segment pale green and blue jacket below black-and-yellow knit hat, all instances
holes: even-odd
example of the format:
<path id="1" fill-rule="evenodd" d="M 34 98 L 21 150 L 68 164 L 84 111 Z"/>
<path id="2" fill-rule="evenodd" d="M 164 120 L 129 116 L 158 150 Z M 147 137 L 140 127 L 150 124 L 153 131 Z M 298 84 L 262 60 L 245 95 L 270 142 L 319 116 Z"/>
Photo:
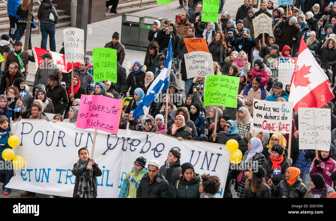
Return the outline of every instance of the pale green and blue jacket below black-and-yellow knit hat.
<path id="1" fill-rule="evenodd" d="M 148 173 L 147 168 L 135 171 L 133 167 L 125 176 L 118 198 L 136 198 L 136 190 L 138 189 L 143 175 L 146 173 Z"/>

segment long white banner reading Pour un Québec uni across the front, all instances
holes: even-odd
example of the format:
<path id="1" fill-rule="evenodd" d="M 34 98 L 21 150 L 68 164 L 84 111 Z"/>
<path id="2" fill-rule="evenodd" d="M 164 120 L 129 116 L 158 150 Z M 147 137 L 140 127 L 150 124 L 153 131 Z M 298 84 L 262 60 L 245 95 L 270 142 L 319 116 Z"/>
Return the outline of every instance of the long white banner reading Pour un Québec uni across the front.
<path id="1" fill-rule="evenodd" d="M 86 147 L 91 153 L 94 129 L 32 119 L 20 120 L 11 126 L 13 134 L 20 139 L 19 146 L 13 150 L 26 160 L 27 168 L 15 170 L 16 176 L 7 187 L 72 197 L 75 176 L 71 171 L 78 161 L 80 148 Z M 102 176 L 97 177 L 97 197 L 118 197 L 123 179 L 136 158 L 142 156 L 147 163 L 155 159 L 164 165 L 172 148 L 180 150 L 181 164 L 191 162 L 196 173 L 218 176 L 221 188 L 216 197 L 223 197 L 231 153 L 225 145 L 179 141 L 164 134 L 130 130 L 119 130 L 118 134 L 98 130 L 94 160 Z"/>

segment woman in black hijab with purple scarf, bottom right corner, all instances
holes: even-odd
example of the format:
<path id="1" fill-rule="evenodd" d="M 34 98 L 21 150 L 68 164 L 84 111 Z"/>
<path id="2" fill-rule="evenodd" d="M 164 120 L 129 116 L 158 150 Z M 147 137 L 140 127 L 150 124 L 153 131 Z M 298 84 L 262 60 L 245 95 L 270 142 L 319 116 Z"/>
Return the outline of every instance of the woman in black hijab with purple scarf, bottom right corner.
<path id="1" fill-rule="evenodd" d="M 335 190 L 324 182 L 323 176 L 318 173 L 310 175 L 310 188 L 308 188 L 304 198 L 327 198 Z"/>

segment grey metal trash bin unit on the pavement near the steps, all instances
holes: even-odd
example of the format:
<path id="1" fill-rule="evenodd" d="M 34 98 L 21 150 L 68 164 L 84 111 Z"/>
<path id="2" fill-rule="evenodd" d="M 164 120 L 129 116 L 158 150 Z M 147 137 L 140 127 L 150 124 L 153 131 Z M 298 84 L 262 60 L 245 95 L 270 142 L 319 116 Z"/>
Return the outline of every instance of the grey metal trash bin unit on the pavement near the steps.
<path id="1" fill-rule="evenodd" d="M 165 20 L 171 22 L 170 19 L 165 18 L 123 14 L 121 25 L 121 43 L 125 46 L 125 48 L 147 51 L 147 46 L 150 42 L 148 40 L 148 32 L 153 29 L 154 20 L 159 20 L 161 26 Z"/>

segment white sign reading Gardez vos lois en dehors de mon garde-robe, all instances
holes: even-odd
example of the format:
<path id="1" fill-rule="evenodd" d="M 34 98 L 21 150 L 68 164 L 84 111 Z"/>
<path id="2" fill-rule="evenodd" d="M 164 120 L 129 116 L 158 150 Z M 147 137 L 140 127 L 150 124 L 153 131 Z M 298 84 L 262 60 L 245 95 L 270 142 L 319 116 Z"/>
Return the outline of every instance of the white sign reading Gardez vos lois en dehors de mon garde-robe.
<path id="1" fill-rule="evenodd" d="M 267 133 L 292 133 L 293 102 L 253 99 L 253 129 Z"/>

